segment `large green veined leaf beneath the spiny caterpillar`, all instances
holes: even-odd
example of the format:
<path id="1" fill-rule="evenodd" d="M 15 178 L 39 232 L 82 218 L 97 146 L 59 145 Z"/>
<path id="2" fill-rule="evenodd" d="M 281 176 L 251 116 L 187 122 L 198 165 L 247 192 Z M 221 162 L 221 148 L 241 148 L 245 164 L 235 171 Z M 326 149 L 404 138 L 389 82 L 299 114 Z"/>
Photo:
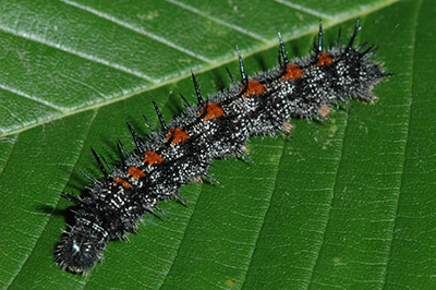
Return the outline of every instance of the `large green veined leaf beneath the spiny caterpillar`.
<path id="1" fill-rule="evenodd" d="M 0 287 L 11 289 L 435 288 L 436 105 L 433 1 L 1 1 Z M 306 56 L 323 19 L 334 46 L 356 17 L 360 43 L 393 73 L 374 105 L 328 123 L 293 120 L 294 140 L 253 137 L 255 164 L 216 160 L 220 185 L 189 184 L 191 206 L 162 203 L 130 242 L 108 244 L 86 276 L 61 270 L 60 198 L 98 177 L 89 146 L 117 160 L 238 72 L 277 63 L 277 31 Z"/>

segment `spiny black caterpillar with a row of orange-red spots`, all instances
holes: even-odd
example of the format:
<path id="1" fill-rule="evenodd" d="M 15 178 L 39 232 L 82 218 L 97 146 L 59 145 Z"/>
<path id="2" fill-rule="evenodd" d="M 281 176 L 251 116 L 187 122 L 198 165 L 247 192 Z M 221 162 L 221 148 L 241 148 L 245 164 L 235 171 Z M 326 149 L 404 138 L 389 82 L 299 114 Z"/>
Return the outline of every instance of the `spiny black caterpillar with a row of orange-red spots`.
<path id="1" fill-rule="evenodd" d="M 359 29 L 358 21 L 348 46 L 341 47 L 339 35 L 338 47 L 323 51 L 319 25 L 314 52 L 291 61 L 279 34 L 279 65 L 253 77 L 245 75 L 238 51 L 242 81 L 235 82 L 229 73 L 232 86 L 205 100 L 193 75 L 198 104 L 186 101 L 187 109 L 168 124 L 154 102 L 162 129 L 150 126 L 152 135 L 142 138 L 128 124 L 136 149 L 128 153 L 119 142 L 117 167 L 104 158 L 101 162 L 93 150 L 104 178 L 84 173 L 93 188 L 81 197 L 63 194 L 75 203 L 75 223 L 57 245 L 57 264 L 72 273 L 88 270 L 102 258 L 107 242 L 125 239 L 146 213 L 160 210 L 160 201 L 179 197 L 186 202 L 179 194 L 180 186 L 202 176 L 211 178 L 206 170 L 214 159 L 237 153 L 249 158 L 243 148 L 250 136 L 277 131 L 289 135 L 291 118 L 324 120 L 328 105 L 349 105 L 347 97 L 371 101 L 373 86 L 388 73 L 370 60 L 373 46 L 353 47 Z"/>

